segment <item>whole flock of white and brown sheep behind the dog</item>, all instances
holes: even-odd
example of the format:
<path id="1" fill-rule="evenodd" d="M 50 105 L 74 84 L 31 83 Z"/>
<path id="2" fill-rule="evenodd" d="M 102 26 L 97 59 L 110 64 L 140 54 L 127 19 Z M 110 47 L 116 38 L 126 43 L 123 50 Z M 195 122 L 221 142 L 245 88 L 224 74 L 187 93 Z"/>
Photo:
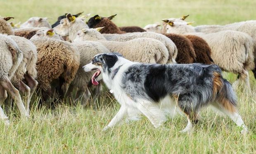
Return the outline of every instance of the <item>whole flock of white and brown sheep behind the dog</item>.
<path id="1" fill-rule="evenodd" d="M 92 85 L 92 73 L 82 67 L 94 55 L 108 52 L 146 63 L 218 64 L 238 74 L 234 87 L 243 84 L 251 93 L 248 71 L 256 77 L 256 21 L 193 27 L 183 16 L 142 29 L 116 26 L 111 21 L 116 15 L 85 21 L 90 14 L 78 17 L 81 14 L 59 16 L 52 26 L 47 18 L 32 17 L 20 26 L 9 23 L 12 17 L 0 18 L 1 106 L 8 92 L 21 115 L 28 117 L 36 90 L 43 104 L 68 98 L 85 105 L 92 97 L 95 106 L 102 83 Z M 1 107 L 0 119 L 9 124 Z"/>

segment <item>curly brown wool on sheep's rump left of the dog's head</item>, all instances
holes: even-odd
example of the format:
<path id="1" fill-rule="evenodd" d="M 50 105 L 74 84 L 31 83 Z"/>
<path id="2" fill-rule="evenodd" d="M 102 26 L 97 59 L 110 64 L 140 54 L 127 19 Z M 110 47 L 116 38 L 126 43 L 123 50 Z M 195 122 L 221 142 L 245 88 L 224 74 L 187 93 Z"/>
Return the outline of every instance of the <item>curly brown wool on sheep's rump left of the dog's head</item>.
<path id="1" fill-rule="evenodd" d="M 64 78 L 64 92 L 75 78 L 80 63 L 76 46 L 66 41 L 48 38 L 31 39 L 37 47 L 37 80 L 44 91 L 50 88 L 53 80 Z"/>

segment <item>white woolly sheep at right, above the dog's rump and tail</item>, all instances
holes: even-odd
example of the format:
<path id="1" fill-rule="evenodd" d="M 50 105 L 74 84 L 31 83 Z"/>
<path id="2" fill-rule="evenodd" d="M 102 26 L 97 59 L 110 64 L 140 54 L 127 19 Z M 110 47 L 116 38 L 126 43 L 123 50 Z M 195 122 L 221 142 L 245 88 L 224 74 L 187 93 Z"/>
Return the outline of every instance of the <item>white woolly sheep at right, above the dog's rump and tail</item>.
<path id="1" fill-rule="evenodd" d="M 211 57 L 224 71 L 239 74 L 235 83 L 237 87 L 241 80 L 245 81 L 244 90 L 251 92 L 248 71 L 254 69 L 254 40 L 243 32 L 221 31 L 216 33 L 195 32 L 194 27 L 187 23 L 168 21 L 164 25 L 168 33 L 192 34 L 206 40 L 212 50 Z"/>

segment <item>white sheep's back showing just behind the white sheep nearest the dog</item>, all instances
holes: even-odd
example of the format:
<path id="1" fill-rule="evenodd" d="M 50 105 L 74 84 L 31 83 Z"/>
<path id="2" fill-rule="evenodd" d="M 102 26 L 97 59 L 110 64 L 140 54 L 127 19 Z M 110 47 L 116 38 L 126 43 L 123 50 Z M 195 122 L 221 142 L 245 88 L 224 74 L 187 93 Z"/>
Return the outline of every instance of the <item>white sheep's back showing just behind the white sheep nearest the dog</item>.
<path id="1" fill-rule="evenodd" d="M 108 40 L 108 41 L 130 41 L 132 39 L 137 39 L 137 38 L 151 38 L 151 39 L 157 39 L 161 41 L 166 48 L 169 51 L 170 58 L 168 59 L 168 63 L 175 63 L 175 59 L 177 57 L 178 49 L 173 43 L 171 39 L 166 37 L 163 34 L 158 34 L 155 32 L 133 32 L 133 33 L 125 33 L 125 34 L 103 34 L 103 36 Z"/>

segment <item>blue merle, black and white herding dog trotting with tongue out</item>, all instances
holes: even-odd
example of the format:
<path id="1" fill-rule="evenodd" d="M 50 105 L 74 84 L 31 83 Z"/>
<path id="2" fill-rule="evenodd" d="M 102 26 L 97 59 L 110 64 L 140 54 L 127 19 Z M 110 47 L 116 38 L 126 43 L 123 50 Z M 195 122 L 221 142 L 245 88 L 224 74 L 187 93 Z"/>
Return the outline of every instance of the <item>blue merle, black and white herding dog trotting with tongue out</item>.
<path id="1" fill-rule="evenodd" d="M 189 132 L 198 122 L 199 110 L 211 105 L 241 126 L 242 133 L 248 131 L 237 111 L 235 92 L 217 65 L 144 64 L 131 62 L 119 53 L 102 53 L 83 69 L 97 70 L 92 84 L 103 78 L 121 105 L 103 130 L 120 124 L 124 117 L 136 120 L 140 114 L 158 128 L 166 121 L 166 114 L 178 110 L 188 121 L 182 132 Z"/>

